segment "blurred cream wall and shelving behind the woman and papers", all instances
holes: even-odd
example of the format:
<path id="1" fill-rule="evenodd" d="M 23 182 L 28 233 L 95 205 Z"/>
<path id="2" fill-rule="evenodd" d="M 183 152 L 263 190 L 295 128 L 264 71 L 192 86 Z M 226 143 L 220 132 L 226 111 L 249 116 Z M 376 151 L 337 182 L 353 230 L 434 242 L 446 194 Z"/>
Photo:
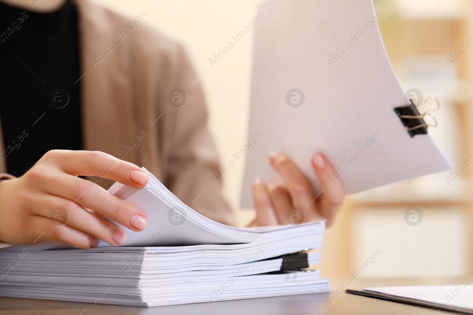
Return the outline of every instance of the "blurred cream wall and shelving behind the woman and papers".
<path id="1" fill-rule="evenodd" d="M 201 75 L 210 112 L 208 126 L 223 142 L 216 141 L 221 162 L 228 161 L 247 141 L 254 32 L 213 67 L 209 59 L 256 15 L 263 1 L 95 1 L 130 20 L 142 11 L 146 14 L 143 23 L 184 43 Z M 383 14 L 378 25 L 404 89 L 416 88 L 424 98 L 435 95 L 440 100 L 441 109 L 435 113 L 439 124 L 429 128 L 429 133 L 454 167 L 466 160 L 473 162 L 473 47 L 463 48 L 466 52 L 457 54 L 456 60 L 450 56 L 465 42 L 473 44 L 473 1 L 374 3 Z M 447 64 L 447 58 L 455 63 Z M 437 278 L 473 271 L 470 169 L 473 166 L 450 185 L 446 180 L 449 172 L 444 172 L 347 197 L 324 238 L 322 275 L 345 277 L 378 248 L 382 254 L 357 276 Z M 244 163 L 236 163 L 224 178 L 225 195 L 240 226 L 254 218 L 252 210 L 238 207 L 243 170 Z M 405 221 L 410 207 L 417 207 L 420 224 Z"/>

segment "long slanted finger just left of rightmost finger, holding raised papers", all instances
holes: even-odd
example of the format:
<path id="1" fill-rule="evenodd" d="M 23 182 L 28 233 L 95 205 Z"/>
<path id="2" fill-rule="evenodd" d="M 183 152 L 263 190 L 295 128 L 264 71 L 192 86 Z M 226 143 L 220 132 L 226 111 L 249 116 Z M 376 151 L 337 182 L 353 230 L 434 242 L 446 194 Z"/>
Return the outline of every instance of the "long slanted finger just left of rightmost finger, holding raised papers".
<path id="1" fill-rule="evenodd" d="M 306 213 L 306 221 L 321 220 L 322 216 L 315 211 L 316 205 L 312 203 L 312 187 L 297 165 L 287 155 L 277 153 L 270 155 L 270 162 L 284 180 L 292 204 Z"/>

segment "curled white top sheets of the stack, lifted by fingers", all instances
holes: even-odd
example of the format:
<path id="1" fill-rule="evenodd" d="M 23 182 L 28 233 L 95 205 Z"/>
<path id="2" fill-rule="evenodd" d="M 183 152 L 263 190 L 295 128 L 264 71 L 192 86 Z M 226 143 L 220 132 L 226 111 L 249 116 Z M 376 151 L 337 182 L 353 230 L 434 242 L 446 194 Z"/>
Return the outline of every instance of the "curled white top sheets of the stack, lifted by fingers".
<path id="1" fill-rule="evenodd" d="M 148 172 L 145 168 L 142 169 Z M 127 240 L 121 247 L 243 244 L 290 240 L 307 235 L 317 236 L 322 241 L 325 231 L 323 220 L 306 222 L 298 226 L 287 224 L 259 229 L 241 229 L 221 224 L 184 204 L 151 173 L 149 173 L 148 184 L 141 189 L 115 182 L 108 191 L 135 204 L 148 218 L 146 229 L 135 232 L 105 217 L 106 220 L 114 222 L 125 231 Z M 175 213 L 173 209 L 178 213 Z M 180 221 L 173 221 L 172 218 L 175 215 Z M 111 247 L 111 245 L 99 240 L 97 247 Z M 70 248 L 72 247 L 55 241 L 44 241 L 28 247 L 29 250 Z"/>

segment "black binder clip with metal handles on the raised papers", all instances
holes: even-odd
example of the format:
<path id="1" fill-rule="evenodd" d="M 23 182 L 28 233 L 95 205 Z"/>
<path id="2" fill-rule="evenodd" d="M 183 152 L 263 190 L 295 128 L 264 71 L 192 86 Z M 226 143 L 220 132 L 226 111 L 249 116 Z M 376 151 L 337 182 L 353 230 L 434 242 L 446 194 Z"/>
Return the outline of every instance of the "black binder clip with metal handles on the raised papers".
<path id="1" fill-rule="evenodd" d="M 427 102 L 428 99 L 432 99 L 437 102 L 437 108 L 434 110 L 425 111 L 423 114 L 419 113 L 419 111 L 417 110 L 418 107 L 414 105 L 412 100 L 409 100 L 409 102 L 411 103 L 410 106 L 394 108 L 394 111 L 401 118 L 403 125 L 407 127 L 407 132 L 409 133 L 409 135 L 411 135 L 411 137 L 420 134 L 427 134 L 428 126 L 437 126 L 437 119 L 435 119 L 434 115 L 429 113 L 429 111 L 438 111 L 438 109 L 440 108 L 440 103 L 438 102 L 438 99 L 433 95 L 426 98 L 423 103 Z M 421 105 L 422 104 L 420 104 L 419 106 Z M 434 119 L 435 125 L 430 125 L 425 122 L 424 117 L 426 115 L 429 115 L 432 119 Z"/>

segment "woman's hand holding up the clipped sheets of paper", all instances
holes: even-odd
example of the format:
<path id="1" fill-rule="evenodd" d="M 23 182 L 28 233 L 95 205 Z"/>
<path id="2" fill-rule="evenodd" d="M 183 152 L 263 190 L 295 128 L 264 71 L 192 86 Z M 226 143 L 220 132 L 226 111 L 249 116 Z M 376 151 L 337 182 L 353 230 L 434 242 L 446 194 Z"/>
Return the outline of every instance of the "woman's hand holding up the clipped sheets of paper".
<path id="1" fill-rule="evenodd" d="M 284 154 L 271 153 L 270 163 L 284 180 L 286 187 L 267 185 L 261 179 L 253 183 L 253 198 L 256 208 L 256 225 L 292 224 L 326 219 L 333 223 L 335 213 L 343 201 L 340 181 L 327 180 L 333 175 L 333 167 L 321 153 L 310 160 L 322 192 L 314 193 L 307 178 L 296 164 Z"/>

